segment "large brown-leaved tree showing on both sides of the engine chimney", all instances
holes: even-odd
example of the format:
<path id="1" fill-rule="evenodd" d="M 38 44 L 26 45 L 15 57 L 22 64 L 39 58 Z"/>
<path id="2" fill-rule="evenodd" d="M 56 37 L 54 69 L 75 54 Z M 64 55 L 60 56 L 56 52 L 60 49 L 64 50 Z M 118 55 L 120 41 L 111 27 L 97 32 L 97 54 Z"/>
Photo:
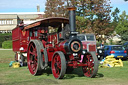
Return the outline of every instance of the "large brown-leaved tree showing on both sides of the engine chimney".
<path id="1" fill-rule="evenodd" d="M 77 8 L 78 31 L 81 32 L 81 29 L 85 29 L 84 32 L 93 32 L 96 36 L 109 35 L 109 32 L 113 31 L 113 28 L 109 25 L 110 0 L 47 0 L 45 14 L 46 16 L 53 16 L 54 14 L 55 17 L 59 15 L 65 17 L 67 16 L 66 8 L 69 6 Z"/>

